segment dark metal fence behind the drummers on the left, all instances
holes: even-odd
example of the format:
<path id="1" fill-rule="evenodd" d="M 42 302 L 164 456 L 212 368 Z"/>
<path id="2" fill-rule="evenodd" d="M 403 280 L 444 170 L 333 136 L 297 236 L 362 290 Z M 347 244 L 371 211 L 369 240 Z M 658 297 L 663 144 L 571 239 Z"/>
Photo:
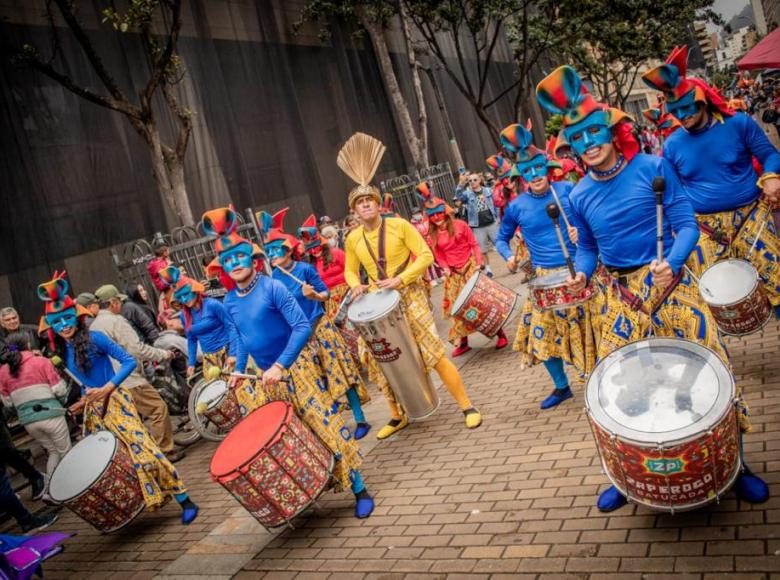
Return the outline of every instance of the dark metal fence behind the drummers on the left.
<path id="1" fill-rule="evenodd" d="M 238 214 L 241 224 L 238 227 L 238 233 L 262 246 L 252 210 L 246 210 L 246 215 L 247 219 L 240 213 Z M 216 256 L 214 252 L 216 238 L 205 236 L 200 229 L 200 224 L 197 228 L 192 226 L 177 227 L 167 234 L 158 232 L 151 240 L 141 238 L 111 248 L 109 250 L 111 261 L 122 284 L 124 286 L 142 284 L 149 296 L 155 297 L 154 300 L 150 300 L 150 306 L 155 310 L 157 309 L 159 292 L 152 283 L 146 267 L 155 257 L 153 244 L 157 240 L 163 240 L 168 245 L 171 263 L 184 269 L 188 276 L 197 280 L 206 278 L 206 266 Z"/>

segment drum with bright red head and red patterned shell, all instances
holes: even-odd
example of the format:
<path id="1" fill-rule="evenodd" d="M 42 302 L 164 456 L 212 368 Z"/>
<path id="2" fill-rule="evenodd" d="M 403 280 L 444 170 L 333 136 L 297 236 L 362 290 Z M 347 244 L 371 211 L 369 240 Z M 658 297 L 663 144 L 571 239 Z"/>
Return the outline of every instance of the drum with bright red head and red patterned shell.
<path id="1" fill-rule="evenodd" d="M 220 443 L 211 476 L 266 528 L 288 523 L 317 499 L 333 455 L 295 415 L 274 401 L 249 414 Z"/>

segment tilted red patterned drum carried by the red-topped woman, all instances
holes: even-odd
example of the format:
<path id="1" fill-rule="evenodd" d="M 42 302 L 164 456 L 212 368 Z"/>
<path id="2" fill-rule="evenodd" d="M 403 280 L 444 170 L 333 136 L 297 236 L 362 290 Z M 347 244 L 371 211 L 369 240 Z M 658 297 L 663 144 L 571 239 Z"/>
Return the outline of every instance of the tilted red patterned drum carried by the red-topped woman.
<path id="1" fill-rule="evenodd" d="M 474 272 L 452 304 L 452 316 L 470 330 L 493 337 L 501 330 L 517 303 L 517 294 L 506 286 Z"/>

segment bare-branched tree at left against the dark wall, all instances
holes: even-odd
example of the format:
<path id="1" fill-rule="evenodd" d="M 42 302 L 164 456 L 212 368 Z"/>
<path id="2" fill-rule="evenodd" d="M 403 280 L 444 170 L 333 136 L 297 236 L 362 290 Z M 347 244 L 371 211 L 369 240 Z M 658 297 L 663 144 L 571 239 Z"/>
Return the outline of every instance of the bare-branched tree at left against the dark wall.
<path id="1" fill-rule="evenodd" d="M 83 86 L 62 72 L 63 68 L 67 68 L 67 63 L 63 62 L 59 52 L 54 6 L 100 79 L 103 90 Z M 51 55 L 44 58 L 36 47 L 27 44 L 14 57 L 14 61 L 46 75 L 91 103 L 124 115 L 149 148 L 154 179 L 163 202 L 182 224 L 194 224 L 184 183 L 184 155 L 192 132 L 192 111 L 183 106 L 175 94 L 175 86 L 185 74 L 176 54 L 181 29 L 181 0 L 129 0 L 124 12 L 113 8 L 102 11 L 103 23 L 108 23 L 117 34 L 138 33 L 149 63 L 149 77 L 133 98 L 119 88 L 97 53 L 78 18 L 77 2 L 46 0 L 46 11 L 53 40 Z M 154 30 L 160 28 L 164 34 L 158 36 Z M 157 112 L 153 106 L 158 94 L 162 96 L 165 109 L 176 127 L 175 141 L 171 143 L 165 142 L 160 135 Z"/>

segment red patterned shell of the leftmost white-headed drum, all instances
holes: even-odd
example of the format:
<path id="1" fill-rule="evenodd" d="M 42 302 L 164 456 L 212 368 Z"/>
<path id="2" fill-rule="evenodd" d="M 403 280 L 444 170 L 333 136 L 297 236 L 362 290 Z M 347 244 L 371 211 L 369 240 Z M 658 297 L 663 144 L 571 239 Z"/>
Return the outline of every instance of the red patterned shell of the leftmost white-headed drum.
<path id="1" fill-rule="evenodd" d="M 121 440 L 115 440 L 114 455 L 100 477 L 79 495 L 61 502 L 103 533 L 123 528 L 132 522 L 146 505 L 130 453 Z M 58 468 L 65 468 L 66 465 L 60 462 Z"/>

